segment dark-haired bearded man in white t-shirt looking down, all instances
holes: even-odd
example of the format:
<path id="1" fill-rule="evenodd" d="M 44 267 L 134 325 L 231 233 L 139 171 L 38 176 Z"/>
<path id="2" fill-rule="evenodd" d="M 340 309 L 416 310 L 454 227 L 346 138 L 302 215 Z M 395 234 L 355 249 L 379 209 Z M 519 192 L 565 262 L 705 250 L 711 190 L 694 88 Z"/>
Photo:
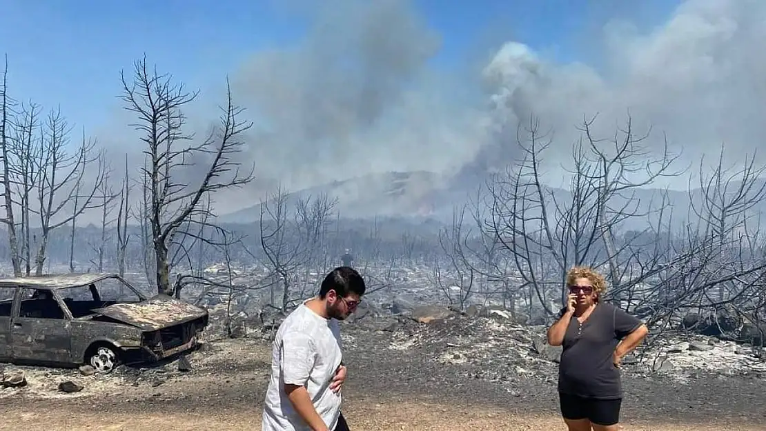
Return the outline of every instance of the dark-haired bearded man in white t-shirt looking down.
<path id="1" fill-rule="evenodd" d="M 345 366 L 338 321 L 364 294 L 362 276 L 339 266 L 322 281 L 319 295 L 282 322 L 272 345 L 263 431 L 349 431 L 340 412 Z"/>

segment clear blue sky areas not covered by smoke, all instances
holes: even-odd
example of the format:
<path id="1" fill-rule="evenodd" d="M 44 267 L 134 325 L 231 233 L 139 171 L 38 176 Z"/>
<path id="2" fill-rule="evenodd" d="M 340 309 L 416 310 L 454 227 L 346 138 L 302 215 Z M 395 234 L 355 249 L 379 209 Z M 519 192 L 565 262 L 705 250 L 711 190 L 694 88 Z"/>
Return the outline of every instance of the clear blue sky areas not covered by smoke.
<path id="1" fill-rule="evenodd" d="M 287 0 L 285 0 L 287 1 Z M 553 60 L 597 65 L 588 41 L 607 18 L 640 28 L 666 20 L 676 0 L 415 0 L 440 34 L 434 67 L 459 67 L 472 50 L 516 40 Z M 45 108 L 61 104 L 70 122 L 106 122 L 117 104 L 119 70 L 144 52 L 190 87 L 220 83 L 256 51 L 289 46 L 306 30 L 302 15 L 273 0 L 0 0 L 0 53 L 10 92 Z"/>

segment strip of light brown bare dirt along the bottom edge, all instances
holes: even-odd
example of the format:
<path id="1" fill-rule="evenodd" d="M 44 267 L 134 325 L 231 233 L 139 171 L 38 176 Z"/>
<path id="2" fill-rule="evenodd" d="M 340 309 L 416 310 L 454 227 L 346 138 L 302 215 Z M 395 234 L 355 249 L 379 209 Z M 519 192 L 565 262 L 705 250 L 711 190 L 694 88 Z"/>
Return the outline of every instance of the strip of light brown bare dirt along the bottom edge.
<path id="1" fill-rule="evenodd" d="M 374 401 L 373 401 L 374 402 Z M 41 407 L 41 406 L 37 406 Z M 162 411 L 155 409 L 140 414 L 109 411 L 71 411 L 64 406 L 48 409 L 19 408 L 3 413 L 0 430 L 45 429 L 46 431 L 110 430 L 110 431 L 241 431 L 260 429 L 260 407 L 243 410 L 209 411 L 205 407 L 191 412 Z M 487 410 L 478 407 L 434 404 L 419 401 L 359 403 L 350 402 L 345 416 L 352 429 L 366 431 L 393 431 L 411 429 L 417 431 L 453 431 L 456 429 L 504 430 L 555 430 L 565 429 L 555 416 L 532 416 L 514 414 L 503 410 Z M 731 423 L 660 423 L 630 421 L 624 423 L 626 431 L 713 431 L 720 429 L 760 430 L 764 426 Z"/>

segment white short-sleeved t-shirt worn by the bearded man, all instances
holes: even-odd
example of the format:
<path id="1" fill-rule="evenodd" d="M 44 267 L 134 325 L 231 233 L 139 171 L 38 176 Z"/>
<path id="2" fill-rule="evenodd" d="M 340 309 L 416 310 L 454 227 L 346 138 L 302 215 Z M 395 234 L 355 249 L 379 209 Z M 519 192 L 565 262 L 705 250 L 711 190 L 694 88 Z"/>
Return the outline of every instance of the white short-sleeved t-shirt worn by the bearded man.
<path id="1" fill-rule="evenodd" d="M 340 327 L 306 307 L 288 315 L 277 330 L 271 351 L 271 380 L 264 402 L 263 431 L 310 431 L 293 409 L 284 384 L 303 385 L 329 429 L 340 415 L 341 394 L 329 389 L 342 359 Z"/>

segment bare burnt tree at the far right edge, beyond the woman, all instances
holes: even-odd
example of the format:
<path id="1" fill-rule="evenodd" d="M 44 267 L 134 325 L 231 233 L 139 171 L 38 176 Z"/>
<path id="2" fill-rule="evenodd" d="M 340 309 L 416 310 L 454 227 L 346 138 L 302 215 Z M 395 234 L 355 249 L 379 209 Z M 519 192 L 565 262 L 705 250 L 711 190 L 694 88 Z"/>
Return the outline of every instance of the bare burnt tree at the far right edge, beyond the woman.
<path id="1" fill-rule="evenodd" d="M 753 315 L 766 279 L 766 243 L 756 208 L 766 197 L 766 166 L 745 158 L 731 169 L 722 160 L 723 152 L 712 169 L 700 165 L 699 188 L 690 182 L 687 220 L 671 243 L 684 259 L 657 274 L 649 295 L 661 299 L 651 304 L 654 321 L 693 311 L 708 316 L 709 335 L 732 333 L 742 318 Z"/>

